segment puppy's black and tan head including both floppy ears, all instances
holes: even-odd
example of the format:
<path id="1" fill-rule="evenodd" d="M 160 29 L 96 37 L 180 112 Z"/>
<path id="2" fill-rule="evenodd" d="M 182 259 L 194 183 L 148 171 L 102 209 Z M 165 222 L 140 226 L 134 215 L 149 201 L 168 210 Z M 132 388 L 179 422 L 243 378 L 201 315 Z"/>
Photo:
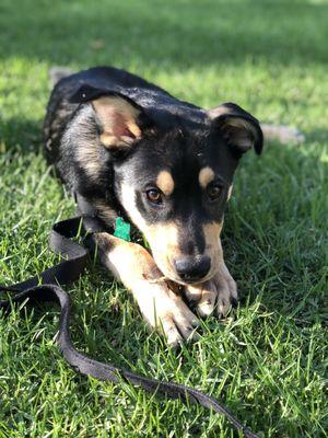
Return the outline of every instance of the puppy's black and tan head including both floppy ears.
<path id="1" fill-rule="evenodd" d="M 179 115 L 163 127 L 117 93 L 89 90 L 89 100 L 102 147 L 114 157 L 116 196 L 159 268 L 183 285 L 210 279 L 222 258 L 219 237 L 234 171 L 244 152 L 262 149 L 257 119 L 226 103 L 197 108 L 198 123 Z"/>

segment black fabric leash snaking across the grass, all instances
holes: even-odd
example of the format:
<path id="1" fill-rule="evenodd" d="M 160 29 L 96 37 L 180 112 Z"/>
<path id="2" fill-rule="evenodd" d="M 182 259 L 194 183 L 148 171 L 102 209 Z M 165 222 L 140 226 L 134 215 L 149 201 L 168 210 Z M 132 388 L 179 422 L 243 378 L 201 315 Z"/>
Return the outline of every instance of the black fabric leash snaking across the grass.
<path id="1" fill-rule="evenodd" d="M 199 403 L 219 414 L 223 414 L 236 430 L 243 431 L 246 438 L 258 438 L 257 435 L 236 419 L 218 400 L 201 391 L 178 383 L 163 382 L 138 376 L 133 372 L 118 369 L 110 364 L 98 362 L 75 349 L 69 331 L 72 303 L 68 293 L 58 284 L 67 285 L 77 280 L 86 265 L 89 251 L 71 239 L 78 234 L 86 237 L 90 233 L 101 231 L 104 231 L 103 222 L 97 218 L 89 216 L 79 216 L 55 223 L 50 233 L 49 246 L 67 260 L 26 281 L 13 286 L 0 285 L 0 291 L 13 292 L 9 300 L 0 301 L 0 309 L 10 311 L 11 304 L 23 302 L 26 299 L 28 299 L 28 303 L 38 303 L 40 301 L 58 302 L 61 311 L 57 342 L 63 357 L 78 372 L 114 383 L 119 383 L 124 379 L 128 383 L 141 387 L 152 393 L 160 393 L 169 399 L 180 399 L 181 401 Z M 39 285 L 40 280 L 42 285 Z"/>

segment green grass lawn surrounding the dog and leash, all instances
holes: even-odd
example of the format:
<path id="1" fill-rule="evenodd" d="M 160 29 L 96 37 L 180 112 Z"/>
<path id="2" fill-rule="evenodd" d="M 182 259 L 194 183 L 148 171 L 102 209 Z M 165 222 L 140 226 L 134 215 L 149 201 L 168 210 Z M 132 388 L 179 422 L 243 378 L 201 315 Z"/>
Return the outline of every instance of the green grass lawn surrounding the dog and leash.
<path id="1" fill-rule="evenodd" d="M 242 296 L 234 321 L 209 319 L 177 355 L 97 265 L 69 290 L 82 351 L 202 389 L 261 437 L 328 429 L 327 22 L 325 0 L 0 3 L 0 283 L 51 265 L 48 231 L 73 211 L 42 154 L 50 66 L 115 65 L 306 135 L 300 147 L 248 153 L 238 170 L 224 229 Z M 56 307 L 0 313 L 1 438 L 234 436 L 201 407 L 78 376 L 58 353 L 57 325 Z"/>

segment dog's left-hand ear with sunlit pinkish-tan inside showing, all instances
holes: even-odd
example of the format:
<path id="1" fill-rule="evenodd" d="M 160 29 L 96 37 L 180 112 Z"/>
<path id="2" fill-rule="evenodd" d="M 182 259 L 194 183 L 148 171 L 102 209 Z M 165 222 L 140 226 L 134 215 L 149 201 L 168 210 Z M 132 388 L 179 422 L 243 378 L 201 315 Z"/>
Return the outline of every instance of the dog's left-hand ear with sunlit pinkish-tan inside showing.
<path id="1" fill-rule="evenodd" d="M 116 92 L 82 85 L 70 102 L 92 104 L 101 142 L 110 150 L 130 148 L 142 138 L 142 129 L 150 125 L 139 105 Z"/>

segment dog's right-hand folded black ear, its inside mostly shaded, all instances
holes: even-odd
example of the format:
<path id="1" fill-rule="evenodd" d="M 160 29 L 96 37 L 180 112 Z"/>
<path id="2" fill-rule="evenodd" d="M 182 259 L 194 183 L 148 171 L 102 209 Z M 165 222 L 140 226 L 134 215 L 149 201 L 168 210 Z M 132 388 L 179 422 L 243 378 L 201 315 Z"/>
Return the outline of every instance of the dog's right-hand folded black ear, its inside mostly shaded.
<path id="1" fill-rule="evenodd" d="M 208 111 L 212 127 L 222 132 L 223 137 L 237 157 L 248 149 L 255 149 L 260 154 L 263 147 L 263 134 L 259 122 L 241 106 L 224 103 Z"/>

